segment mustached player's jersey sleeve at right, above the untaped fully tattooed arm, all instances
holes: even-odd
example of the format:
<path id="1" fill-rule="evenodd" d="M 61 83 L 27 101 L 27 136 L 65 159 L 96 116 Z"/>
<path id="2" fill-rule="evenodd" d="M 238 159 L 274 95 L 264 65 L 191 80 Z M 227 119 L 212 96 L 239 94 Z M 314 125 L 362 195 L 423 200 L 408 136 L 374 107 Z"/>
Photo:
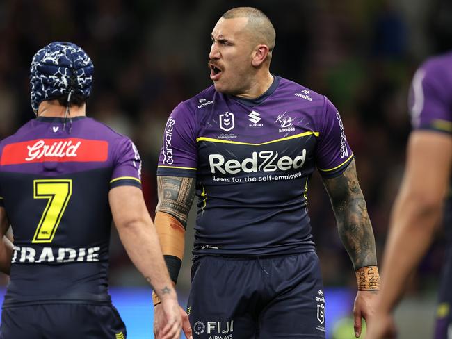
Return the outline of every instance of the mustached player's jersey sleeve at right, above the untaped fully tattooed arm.
<path id="1" fill-rule="evenodd" d="M 325 178 L 338 176 L 350 164 L 353 152 L 348 145 L 341 115 L 325 98 L 323 121 L 319 122 L 320 133 L 316 149 L 316 166 Z"/>

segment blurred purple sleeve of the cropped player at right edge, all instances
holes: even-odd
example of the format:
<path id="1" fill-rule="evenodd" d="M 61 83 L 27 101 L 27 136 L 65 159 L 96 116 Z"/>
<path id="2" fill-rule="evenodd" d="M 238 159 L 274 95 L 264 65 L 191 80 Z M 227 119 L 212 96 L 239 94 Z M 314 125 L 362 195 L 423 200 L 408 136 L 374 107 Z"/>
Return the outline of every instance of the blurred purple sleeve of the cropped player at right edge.
<path id="1" fill-rule="evenodd" d="M 408 101 L 413 129 L 452 134 L 451 84 L 446 79 L 435 63 L 426 63 L 414 74 Z"/>

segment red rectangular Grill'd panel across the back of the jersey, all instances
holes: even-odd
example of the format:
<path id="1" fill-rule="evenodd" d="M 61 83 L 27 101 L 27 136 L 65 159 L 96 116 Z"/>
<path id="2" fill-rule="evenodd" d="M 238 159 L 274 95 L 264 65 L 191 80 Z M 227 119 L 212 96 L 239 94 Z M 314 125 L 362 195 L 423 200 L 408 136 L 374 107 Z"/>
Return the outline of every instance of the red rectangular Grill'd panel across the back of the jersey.
<path id="1" fill-rule="evenodd" d="M 42 163 L 44 161 L 106 161 L 108 142 L 81 138 L 36 139 L 7 144 L 0 165 Z"/>

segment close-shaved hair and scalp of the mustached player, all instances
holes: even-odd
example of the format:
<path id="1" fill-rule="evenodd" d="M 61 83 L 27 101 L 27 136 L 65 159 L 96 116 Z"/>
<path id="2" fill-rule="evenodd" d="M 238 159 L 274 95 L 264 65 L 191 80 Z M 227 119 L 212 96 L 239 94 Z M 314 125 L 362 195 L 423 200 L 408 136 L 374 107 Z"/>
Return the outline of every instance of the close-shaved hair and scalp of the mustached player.
<path id="1" fill-rule="evenodd" d="M 266 44 L 270 51 L 275 47 L 275 28 L 270 19 L 257 8 L 236 7 L 228 10 L 222 15 L 223 19 L 234 19 L 238 17 L 248 18 L 245 28 L 249 31 L 257 44 Z"/>

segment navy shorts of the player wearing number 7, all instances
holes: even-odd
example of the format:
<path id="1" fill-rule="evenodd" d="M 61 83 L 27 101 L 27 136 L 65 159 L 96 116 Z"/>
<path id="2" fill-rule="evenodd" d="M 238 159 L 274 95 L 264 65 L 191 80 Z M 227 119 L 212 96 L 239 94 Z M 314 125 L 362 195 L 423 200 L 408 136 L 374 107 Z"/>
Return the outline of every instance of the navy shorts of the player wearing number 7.
<path id="1" fill-rule="evenodd" d="M 43 304 L 1 311 L 1 339 L 124 339 L 124 322 L 114 306 Z"/>

